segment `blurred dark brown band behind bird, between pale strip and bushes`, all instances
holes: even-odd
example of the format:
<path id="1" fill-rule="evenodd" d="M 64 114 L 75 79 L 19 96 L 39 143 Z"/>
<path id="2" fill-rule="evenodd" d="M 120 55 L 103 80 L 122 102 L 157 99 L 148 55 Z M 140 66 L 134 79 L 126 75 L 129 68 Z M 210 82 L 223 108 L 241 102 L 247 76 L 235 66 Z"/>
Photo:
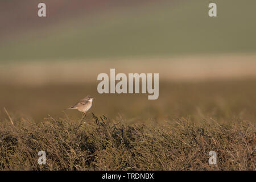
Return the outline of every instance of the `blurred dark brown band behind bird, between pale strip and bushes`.
<path id="1" fill-rule="evenodd" d="M 147 94 L 98 94 L 96 84 L 48 85 L 36 87 L 4 86 L 1 108 L 6 107 L 14 119 L 30 119 L 40 122 L 48 114 L 65 117 L 63 110 L 86 94 L 96 98 L 90 109 L 96 115 L 115 119 L 119 114 L 129 123 L 153 119 L 189 117 L 199 122 L 212 117 L 218 122 L 234 118 L 255 123 L 256 80 L 222 80 L 201 82 L 160 81 L 158 100 L 147 100 Z M 76 110 L 65 111 L 72 119 L 79 119 Z M 90 117 L 90 115 L 88 115 Z M 6 118 L 1 109 L 1 118 Z"/>

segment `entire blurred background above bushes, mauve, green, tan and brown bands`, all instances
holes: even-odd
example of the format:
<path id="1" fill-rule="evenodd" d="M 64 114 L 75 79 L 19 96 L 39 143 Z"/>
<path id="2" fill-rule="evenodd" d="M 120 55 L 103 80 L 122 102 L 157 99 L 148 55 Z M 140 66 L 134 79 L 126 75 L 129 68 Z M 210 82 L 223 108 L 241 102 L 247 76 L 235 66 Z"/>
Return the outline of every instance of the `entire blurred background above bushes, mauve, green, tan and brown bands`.
<path id="1" fill-rule="evenodd" d="M 38 4 L 46 3 L 46 18 Z M 208 5 L 217 4 L 217 17 Z M 0 1 L 0 117 L 42 121 L 90 95 L 129 122 L 256 118 L 254 0 Z M 97 75 L 159 73 L 159 99 L 98 94 Z M 66 113 L 79 118 L 76 110 Z"/>

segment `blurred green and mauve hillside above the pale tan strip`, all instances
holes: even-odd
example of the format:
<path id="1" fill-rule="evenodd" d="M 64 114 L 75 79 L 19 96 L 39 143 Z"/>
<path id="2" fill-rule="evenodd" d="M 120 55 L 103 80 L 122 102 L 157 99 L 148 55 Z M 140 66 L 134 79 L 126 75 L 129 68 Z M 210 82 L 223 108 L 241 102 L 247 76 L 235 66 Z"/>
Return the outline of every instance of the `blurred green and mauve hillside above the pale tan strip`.
<path id="1" fill-rule="evenodd" d="M 0 61 L 73 60 L 256 51 L 256 1 L 0 2 Z"/>

